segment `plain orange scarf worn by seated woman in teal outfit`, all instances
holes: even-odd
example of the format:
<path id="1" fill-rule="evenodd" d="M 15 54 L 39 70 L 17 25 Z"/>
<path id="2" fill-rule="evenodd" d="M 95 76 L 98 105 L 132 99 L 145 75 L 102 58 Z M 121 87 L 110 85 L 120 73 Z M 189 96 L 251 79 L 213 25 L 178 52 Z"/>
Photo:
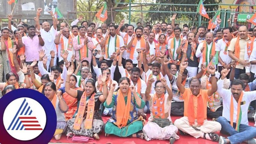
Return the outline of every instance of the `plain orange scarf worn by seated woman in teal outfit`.
<path id="1" fill-rule="evenodd" d="M 126 126 L 127 121 L 129 119 L 132 93 L 131 93 L 131 90 L 129 89 L 126 105 L 124 101 L 124 95 L 121 92 L 121 90 L 119 89 L 117 93 L 118 94 L 117 94 L 117 106 L 116 106 L 116 125 L 119 128 L 121 128 Z"/>

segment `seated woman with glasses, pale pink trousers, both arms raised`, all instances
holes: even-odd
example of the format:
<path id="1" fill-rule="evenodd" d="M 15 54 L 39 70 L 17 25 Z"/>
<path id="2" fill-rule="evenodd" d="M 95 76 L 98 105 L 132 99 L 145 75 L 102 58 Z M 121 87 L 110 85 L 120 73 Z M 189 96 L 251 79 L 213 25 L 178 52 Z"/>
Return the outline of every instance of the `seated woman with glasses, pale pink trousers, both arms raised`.
<path id="1" fill-rule="evenodd" d="M 170 140 L 170 144 L 173 144 L 180 137 L 176 134 L 178 133 L 178 128 L 172 124 L 170 116 L 172 90 L 167 86 L 166 80 L 162 78 L 155 83 L 155 94 L 150 95 L 154 81 L 153 78 L 148 80 L 145 93 L 150 106 L 150 117 L 148 118 L 148 123 L 143 127 L 143 132 L 147 135 L 146 140 Z M 164 94 L 165 90 L 167 91 L 166 94 Z"/>

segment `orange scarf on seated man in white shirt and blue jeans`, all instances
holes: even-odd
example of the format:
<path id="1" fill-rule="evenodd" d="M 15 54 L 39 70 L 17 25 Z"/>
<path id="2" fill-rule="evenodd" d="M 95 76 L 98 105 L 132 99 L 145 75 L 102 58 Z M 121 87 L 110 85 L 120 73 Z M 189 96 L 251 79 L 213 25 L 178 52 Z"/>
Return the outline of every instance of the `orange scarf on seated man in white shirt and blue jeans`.
<path id="1" fill-rule="evenodd" d="M 239 125 L 242 118 L 242 110 L 241 110 L 241 101 L 243 100 L 244 92 L 242 91 L 239 100 L 237 102 L 237 116 L 236 116 L 236 130 L 239 132 Z M 234 117 L 234 103 L 233 103 L 233 95 L 231 94 L 230 98 L 230 125 L 233 127 L 233 117 Z"/>

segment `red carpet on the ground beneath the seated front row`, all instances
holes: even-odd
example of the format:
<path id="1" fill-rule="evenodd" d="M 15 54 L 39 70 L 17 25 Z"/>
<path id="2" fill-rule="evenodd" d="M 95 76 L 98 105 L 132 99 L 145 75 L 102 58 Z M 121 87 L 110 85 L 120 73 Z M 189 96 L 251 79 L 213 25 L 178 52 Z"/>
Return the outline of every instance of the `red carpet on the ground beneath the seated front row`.
<path id="1" fill-rule="evenodd" d="M 149 115 L 148 115 L 149 116 Z M 172 121 L 174 122 L 177 118 L 172 116 Z M 106 123 L 109 117 L 102 117 L 104 123 Z M 210 119 L 208 119 L 210 120 Z M 254 122 L 249 122 L 249 125 L 253 126 Z M 217 134 L 220 135 L 220 132 Z M 178 134 L 179 135 L 179 134 Z M 202 138 L 194 138 L 192 136 L 180 136 L 179 140 L 175 141 L 175 144 L 216 144 L 217 142 L 212 142 L 211 140 L 205 140 Z M 223 135 L 222 135 L 223 136 Z M 226 136 L 225 136 L 226 137 Z M 73 143 L 71 140 L 67 140 L 67 136 L 62 135 L 60 140 L 55 140 L 52 138 L 50 142 L 58 142 L 58 143 Z M 168 140 L 141 140 L 139 138 L 121 138 L 114 135 L 110 135 L 109 137 L 105 137 L 105 133 L 100 134 L 100 140 L 93 140 L 89 142 L 89 144 L 169 144 Z"/>

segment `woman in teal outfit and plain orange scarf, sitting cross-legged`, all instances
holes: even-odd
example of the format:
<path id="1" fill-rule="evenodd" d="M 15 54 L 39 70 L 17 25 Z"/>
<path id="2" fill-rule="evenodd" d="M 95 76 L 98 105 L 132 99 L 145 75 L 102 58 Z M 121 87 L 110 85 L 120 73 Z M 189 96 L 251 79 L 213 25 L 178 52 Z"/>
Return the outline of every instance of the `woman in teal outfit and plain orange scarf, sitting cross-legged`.
<path id="1" fill-rule="evenodd" d="M 136 92 L 134 86 L 130 86 L 130 79 L 123 77 L 119 79 L 119 89 L 114 92 L 114 83 L 111 84 L 108 97 L 104 106 L 113 108 L 111 118 L 105 125 L 105 136 L 114 134 L 119 137 L 137 137 L 144 139 L 142 121 L 137 117 L 139 109 L 144 108 L 145 102 Z M 104 91 L 104 90 L 103 90 Z"/>

